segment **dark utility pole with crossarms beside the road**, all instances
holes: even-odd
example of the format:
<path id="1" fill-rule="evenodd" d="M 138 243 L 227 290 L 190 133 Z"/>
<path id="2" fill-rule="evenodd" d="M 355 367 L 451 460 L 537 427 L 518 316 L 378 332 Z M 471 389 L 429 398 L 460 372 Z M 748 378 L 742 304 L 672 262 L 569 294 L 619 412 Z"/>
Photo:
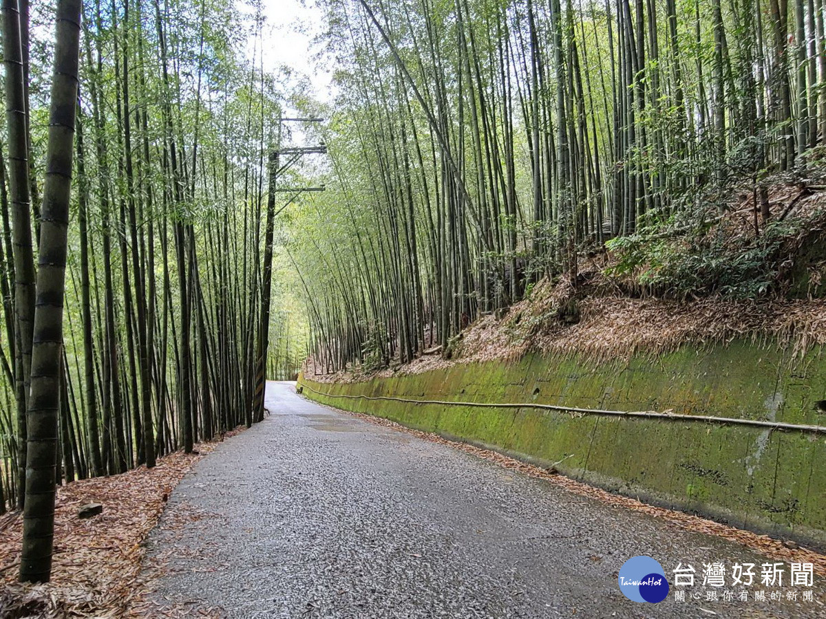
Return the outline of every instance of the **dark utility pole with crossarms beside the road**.
<path id="1" fill-rule="evenodd" d="M 321 122 L 321 118 L 281 118 L 284 122 Z M 282 131 L 278 131 L 282 135 Z M 268 172 L 269 188 L 267 196 L 267 228 L 264 233 L 263 253 L 263 281 L 261 289 L 261 323 L 259 324 L 259 339 L 255 351 L 255 390 L 253 396 L 253 417 L 255 421 L 263 419 L 263 394 L 267 384 L 267 349 L 269 344 L 269 305 L 273 288 L 273 236 L 275 218 L 292 204 L 305 191 L 324 191 L 324 187 L 278 187 L 278 177 L 292 168 L 305 155 L 327 154 L 327 146 L 322 142 L 316 146 L 278 147 L 269 153 Z M 282 156 L 286 159 L 282 162 Z M 275 210 L 275 200 L 278 193 L 291 193 L 289 200 L 278 210 Z"/>

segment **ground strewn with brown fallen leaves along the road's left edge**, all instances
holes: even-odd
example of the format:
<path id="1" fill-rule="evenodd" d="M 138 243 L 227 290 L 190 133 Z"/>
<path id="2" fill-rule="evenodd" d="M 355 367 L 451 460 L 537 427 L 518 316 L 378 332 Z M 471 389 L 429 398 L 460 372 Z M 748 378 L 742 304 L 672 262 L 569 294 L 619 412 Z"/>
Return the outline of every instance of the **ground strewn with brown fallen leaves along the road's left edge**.
<path id="1" fill-rule="evenodd" d="M 224 438 L 238 432 L 240 428 L 226 432 Z M 155 573 L 141 572 L 146 536 L 178 482 L 218 444 L 199 443 L 192 454 L 176 451 L 153 469 L 140 466 L 60 486 L 48 584 L 17 584 L 21 513 L 0 517 L 0 617 L 148 617 L 140 605 Z M 101 503 L 102 513 L 78 518 L 78 509 L 87 503 Z"/>

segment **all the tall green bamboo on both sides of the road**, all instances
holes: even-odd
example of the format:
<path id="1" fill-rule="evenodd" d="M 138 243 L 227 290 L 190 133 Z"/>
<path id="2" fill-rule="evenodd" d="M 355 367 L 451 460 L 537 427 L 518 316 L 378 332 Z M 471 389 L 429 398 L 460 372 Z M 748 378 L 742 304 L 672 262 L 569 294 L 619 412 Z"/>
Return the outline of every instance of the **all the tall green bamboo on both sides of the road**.
<path id="1" fill-rule="evenodd" d="M 771 182 L 823 174 L 823 0 L 319 0 L 327 103 L 263 70 L 254 0 L 0 4 L 0 513 L 24 510 L 24 580 L 49 578 L 55 484 L 262 419 L 263 379 L 308 353 L 447 355 L 543 277 L 577 286 L 605 239 L 738 187 L 757 234 Z M 280 156 L 285 102 L 327 119 L 295 133 L 326 161 Z"/>

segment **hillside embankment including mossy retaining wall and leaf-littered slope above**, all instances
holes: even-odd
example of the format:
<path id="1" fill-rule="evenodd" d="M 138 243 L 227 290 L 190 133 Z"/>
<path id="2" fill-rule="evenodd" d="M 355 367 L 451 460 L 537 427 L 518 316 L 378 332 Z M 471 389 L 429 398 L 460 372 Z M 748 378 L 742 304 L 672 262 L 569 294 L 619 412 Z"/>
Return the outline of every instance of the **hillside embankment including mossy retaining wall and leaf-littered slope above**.
<path id="1" fill-rule="evenodd" d="M 778 198 L 778 218 L 795 196 Z M 690 240 L 676 234 L 624 242 L 582 258 L 576 282 L 540 281 L 506 313 L 483 316 L 447 347 L 409 364 L 324 374 L 308 363 L 300 385 L 307 397 L 339 409 L 491 447 L 648 503 L 822 549 L 826 433 L 817 428 L 826 426 L 824 194 L 807 196 L 795 209 L 800 212 L 786 229 L 762 237 L 748 229 L 747 206 Z M 771 248 L 769 234 L 777 234 Z M 697 248 L 704 243 L 712 243 L 715 256 L 720 248 L 728 253 L 698 262 L 696 272 L 709 272 L 697 275 L 695 290 L 678 294 L 674 273 L 691 270 L 689 261 L 700 260 Z M 743 255 L 755 248 L 762 248 L 754 258 L 762 262 L 743 266 Z M 665 254 L 667 263 L 653 258 Z M 743 268 L 733 273 L 738 264 Z M 719 287 L 720 276 L 729 277 L 732 294 Z M 773 293 L 752 295 L 762 281 Z"/>

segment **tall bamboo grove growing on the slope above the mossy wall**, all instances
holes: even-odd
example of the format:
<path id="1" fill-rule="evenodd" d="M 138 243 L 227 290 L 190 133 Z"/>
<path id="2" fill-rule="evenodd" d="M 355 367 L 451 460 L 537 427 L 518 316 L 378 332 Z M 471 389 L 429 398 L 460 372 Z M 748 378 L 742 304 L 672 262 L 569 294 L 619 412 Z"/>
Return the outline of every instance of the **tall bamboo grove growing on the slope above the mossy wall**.
<path id="1" fill-rule="evenodd" d="M 291 250 L 316 372 L 447 352 L 605 239 L 743 182 L 765 224 L 767 178 L 822 169 L 822 0 L 323 5 L 332 169 Z"/>

